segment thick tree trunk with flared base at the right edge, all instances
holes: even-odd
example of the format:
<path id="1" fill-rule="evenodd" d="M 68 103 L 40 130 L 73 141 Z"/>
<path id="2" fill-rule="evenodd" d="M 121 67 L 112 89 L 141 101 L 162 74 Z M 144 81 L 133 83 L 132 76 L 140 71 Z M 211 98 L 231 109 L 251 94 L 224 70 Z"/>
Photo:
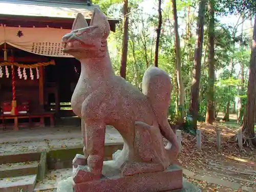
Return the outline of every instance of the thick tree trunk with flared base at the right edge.
<path id="1" fill-rule="evenodd" d="M 256 137 L 254 133 L 254 120 L 256 115 L 256 14 L 254 17 L 253 40 L 251 47 L 250 72 L 248 79 L 247 104 L 241 125 L 244 139 L 250 146 L 256 146 Z"/>

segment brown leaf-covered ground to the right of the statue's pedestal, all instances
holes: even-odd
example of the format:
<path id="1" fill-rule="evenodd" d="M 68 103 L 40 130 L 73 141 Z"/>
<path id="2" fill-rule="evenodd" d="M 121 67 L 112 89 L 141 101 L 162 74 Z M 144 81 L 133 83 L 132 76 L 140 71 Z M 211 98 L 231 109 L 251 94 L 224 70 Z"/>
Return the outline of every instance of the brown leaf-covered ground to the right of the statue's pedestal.
<path id="1" fill-rule="evenodd" d="M 217 151 L 216 146 L 216 129 L 218 128 L 222 130 L 220 151 Z M 195 174 L 221 178 L 256 188 L 256 152 L 249 148 L 243 148 L 240 152 L 237 143 L 228 141 L 235 134 L 235 130 L 218 122 L 214 125 L 200 123 L 198 129 L 202 133 L 202 150 L 197 150 L 195 136 L 183 132 L 182 151 L 178 156 L 178 163 Z M 187 179 L 203 191 L 243 191 L 192 178 Z"/>

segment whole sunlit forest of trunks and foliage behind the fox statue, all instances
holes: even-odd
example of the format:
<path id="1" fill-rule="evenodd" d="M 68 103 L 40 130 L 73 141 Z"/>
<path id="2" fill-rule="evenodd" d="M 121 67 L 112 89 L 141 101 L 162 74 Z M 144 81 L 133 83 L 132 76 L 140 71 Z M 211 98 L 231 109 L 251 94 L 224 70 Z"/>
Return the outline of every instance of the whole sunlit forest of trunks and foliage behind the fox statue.
<path id="1" fill-rule="evenodd" d="M 116 74 L 140 90 L 143 74 L 151 65 L 170 75 L 171 123 L 195 134 L 198 121 L 228 122 L 229 114 L 236 114 L 234 126 L 242 129 L 247 145 L 256 146 L 253 0 L 93 3 L 109 18 L 120 19 L 108 41 Z M 222 119 L 219 113 L 224 114 Z"/>

